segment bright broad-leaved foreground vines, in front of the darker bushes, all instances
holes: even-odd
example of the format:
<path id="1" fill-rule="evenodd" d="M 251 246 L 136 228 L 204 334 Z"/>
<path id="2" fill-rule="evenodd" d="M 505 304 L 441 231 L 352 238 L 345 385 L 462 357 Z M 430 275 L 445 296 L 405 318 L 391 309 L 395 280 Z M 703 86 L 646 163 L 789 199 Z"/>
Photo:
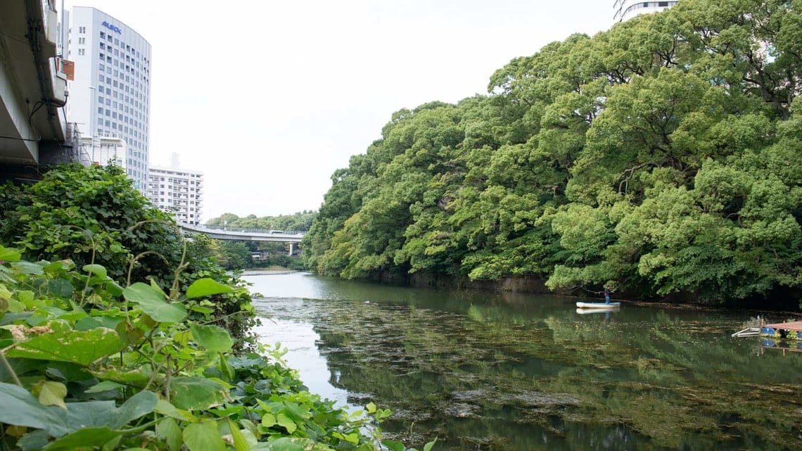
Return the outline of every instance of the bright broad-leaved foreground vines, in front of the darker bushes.
<path id="1" fill-rule="evenodd" d="M 192 319 L 235 288 L 168 294 L 98 264 L 0 259 L 2 449 L 376 449 L 366 427 L 389 411 L 335 408 L 277 347 L 235 355 L 225 328 Z"/>

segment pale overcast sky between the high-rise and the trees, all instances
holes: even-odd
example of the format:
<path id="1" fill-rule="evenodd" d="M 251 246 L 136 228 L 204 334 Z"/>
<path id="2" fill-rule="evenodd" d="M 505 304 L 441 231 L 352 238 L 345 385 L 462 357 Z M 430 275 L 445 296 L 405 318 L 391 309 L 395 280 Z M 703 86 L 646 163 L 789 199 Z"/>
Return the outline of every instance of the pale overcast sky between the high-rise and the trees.
<path id="1" fill-rule="evenodd" d="M 151 165 L 204 173 L 203 219 L 318 209 L 391 114 L 613 22 L 613 0 L 67 0 L 152 46 Z"/>

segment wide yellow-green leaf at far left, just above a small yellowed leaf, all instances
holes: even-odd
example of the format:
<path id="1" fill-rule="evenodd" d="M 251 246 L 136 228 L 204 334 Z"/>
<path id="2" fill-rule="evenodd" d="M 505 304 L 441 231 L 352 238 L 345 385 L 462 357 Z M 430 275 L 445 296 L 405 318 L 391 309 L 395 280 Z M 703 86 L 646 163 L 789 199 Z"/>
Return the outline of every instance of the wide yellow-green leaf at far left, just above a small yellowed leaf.
<path id="1" fill-rule="evenodd" d="M 57 360 L 88 365 L 123 348 L 119 335 L 98 327 L 89 331 L 51 331 L 14 344 L 6 356 L 36 360 Z"/>

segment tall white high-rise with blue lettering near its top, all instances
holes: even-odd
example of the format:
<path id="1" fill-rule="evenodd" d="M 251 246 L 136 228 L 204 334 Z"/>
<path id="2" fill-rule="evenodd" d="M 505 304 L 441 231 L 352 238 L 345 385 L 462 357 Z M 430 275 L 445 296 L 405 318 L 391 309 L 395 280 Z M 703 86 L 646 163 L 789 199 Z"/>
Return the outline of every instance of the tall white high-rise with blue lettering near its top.
<path id="1" fill-rule="evenodd" d="M 103 138 L 125 141 L 124 165 L 134 186 L 148 185 L 151 46 L 139 33 L 103 11 L 75 6 L 64 13 L 65 57 L 75 62 L 67 117 L 78 124 L 92 155 Z M 88 140 L 87 140 L 88 138 Z M 95 145 L 93 145 L 95 144 Z M 104 152 L 92 159 L 106 165 Z"/>

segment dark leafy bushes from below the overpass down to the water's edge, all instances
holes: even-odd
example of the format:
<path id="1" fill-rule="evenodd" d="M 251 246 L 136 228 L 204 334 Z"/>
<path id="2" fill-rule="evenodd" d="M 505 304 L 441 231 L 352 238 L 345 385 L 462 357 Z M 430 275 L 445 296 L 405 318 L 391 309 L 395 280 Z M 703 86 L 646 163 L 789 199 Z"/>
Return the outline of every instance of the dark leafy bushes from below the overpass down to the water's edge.
<path id="1" fill-rule="evenodd" d="M 115 166 L 56 165 L 33 185 L 0 186 L 0 209 L 0 246 L 17 246 L 32 262 L 101 265 L 122 286 L 150 279 L 168 293 L 198 278 L 242 283 L 210 258 L 213 240 L 186 239 L 172 217 L 150 205 Z M 247 249 L 241 255 L 249 261 Z M 250 334 L 256 315 L 248 291 L 215 295 L 212 305 L 198 315 L 237 338 Z"/>

